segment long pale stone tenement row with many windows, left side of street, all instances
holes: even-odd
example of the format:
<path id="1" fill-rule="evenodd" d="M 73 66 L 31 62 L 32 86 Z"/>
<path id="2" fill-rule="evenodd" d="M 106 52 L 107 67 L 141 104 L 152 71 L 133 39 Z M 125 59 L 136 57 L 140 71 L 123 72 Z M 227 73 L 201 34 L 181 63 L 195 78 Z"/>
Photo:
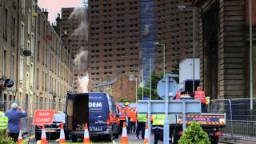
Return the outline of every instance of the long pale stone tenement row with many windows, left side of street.
<path id="1" fill-rule="evenodd" d="M 72 90 L 71 56 L 47 16 L 34 0 L 0 2 L 0 77 L 14 80 L 0 101 L 19 102 L 29 114 L 50 106 L 63 110 L 40 102 L 65 102 Z"/>

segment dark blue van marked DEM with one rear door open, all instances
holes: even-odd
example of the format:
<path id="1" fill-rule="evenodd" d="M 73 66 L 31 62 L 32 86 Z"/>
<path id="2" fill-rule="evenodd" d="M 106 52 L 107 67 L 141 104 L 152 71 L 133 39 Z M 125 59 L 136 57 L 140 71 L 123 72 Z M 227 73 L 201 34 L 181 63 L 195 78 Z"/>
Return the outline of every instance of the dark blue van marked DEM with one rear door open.
<path id="1" fill-rule="evenodd" d="M 108 141 L 118 138 L 118 110 L 114 98 L 102 92 L 68 94 L 66 100 L 66 131 L 72 142 L 84 136 L 88 124 L 90 137 L 104 136 Z"/>

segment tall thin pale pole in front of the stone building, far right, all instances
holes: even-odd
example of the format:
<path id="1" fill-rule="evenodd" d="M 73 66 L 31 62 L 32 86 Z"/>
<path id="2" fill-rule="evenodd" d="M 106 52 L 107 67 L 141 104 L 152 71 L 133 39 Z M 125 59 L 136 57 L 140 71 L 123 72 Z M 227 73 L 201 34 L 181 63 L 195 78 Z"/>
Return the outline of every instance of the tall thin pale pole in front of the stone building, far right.
<path id="1" fill-rule="evenodd" d="M 249 0 L 250 22 L 250 110 L 254 109 L 254 78 L 253 78 L 253 26 L 252 26 L 252 0 Z"/>

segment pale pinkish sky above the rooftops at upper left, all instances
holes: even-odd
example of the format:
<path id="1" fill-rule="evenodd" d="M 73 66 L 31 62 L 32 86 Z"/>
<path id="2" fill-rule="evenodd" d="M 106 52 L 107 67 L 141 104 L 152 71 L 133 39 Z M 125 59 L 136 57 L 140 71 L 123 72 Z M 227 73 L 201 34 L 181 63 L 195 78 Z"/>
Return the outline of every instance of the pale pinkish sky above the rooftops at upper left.
<path id="1" fill-rule="evenodd" d="M 57 13 L 62 13 L 62 7 L 82 7 L 82 0 L 38 0 L 38 6 L 47 9 L 48 20 L 55 22 Z"/>

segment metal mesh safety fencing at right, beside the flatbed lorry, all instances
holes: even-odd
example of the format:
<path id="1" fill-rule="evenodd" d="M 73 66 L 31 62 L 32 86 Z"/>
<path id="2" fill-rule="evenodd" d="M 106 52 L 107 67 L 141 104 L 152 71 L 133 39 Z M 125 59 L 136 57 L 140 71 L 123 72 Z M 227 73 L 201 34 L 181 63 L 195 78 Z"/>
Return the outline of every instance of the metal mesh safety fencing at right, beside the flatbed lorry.
<path id="1" fill-rule="evenodd" d="M 250 98 L 213 99 L 211 113 L 226 113 L 224 138 L 256 141 L 256 98 L 250 110 Z"/>

